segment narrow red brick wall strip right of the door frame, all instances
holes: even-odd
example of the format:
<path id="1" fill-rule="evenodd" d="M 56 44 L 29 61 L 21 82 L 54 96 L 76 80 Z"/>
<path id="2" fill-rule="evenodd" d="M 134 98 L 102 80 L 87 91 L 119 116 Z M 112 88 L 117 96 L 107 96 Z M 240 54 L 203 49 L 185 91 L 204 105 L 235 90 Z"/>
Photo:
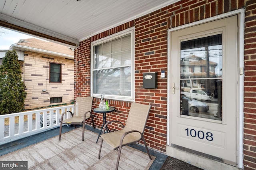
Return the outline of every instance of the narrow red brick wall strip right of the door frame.
<path id="1" fill-rule="evenodd" d="M 256 2 L 246 2 L 244 29 L 244 170 L 256 169 Z"/>

